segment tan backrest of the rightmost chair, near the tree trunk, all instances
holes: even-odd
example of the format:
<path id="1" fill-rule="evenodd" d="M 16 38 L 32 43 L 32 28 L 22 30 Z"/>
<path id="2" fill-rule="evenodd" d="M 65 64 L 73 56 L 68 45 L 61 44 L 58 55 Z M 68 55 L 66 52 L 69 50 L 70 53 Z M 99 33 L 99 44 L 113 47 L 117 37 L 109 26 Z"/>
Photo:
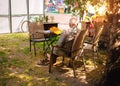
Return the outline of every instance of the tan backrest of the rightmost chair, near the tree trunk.
<path id="1" fill-rule="evenodd" d="M 98 45 L 98 42 L 99 42 L 99 39 L 100 39 L 100 36 L 102 34 L 102 31 L 103 31 L 103 25 L 100 26 L 99 28 L 96 28 L 95 29 L 95 36 L 94 36 L 94 40 L 93 40 L 93 44 L 94 45 Z"/>

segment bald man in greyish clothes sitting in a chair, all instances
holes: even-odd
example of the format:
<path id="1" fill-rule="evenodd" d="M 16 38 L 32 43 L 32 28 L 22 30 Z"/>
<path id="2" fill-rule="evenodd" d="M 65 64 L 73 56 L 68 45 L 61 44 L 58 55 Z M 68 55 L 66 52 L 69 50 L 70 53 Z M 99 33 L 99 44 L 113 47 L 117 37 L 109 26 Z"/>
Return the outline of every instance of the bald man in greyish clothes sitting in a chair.
<path id="1" fill-rule="evenodd" d="M 78 21 L 77 21 L 77 18 L 76 17 L 72 17 L 70 18 L 69 20 L 69 29 L 68 30 L 63 30 L 62 31 L 62 34 L 60 35 L 59 37 L 59 40 L 56 44 L 56 46 L 58 47 L 65 47 L 67 48 L 68 50 L 71 49 L 72 47 L 72 44 L 73 44 L 73 40 L 74 40 L 74 37 L 75 35 L 77 34 L 78 31 L 80 31 L 78 28 L 77 28 L 77 25 L 78 25 Z M 53 63 L 56 63 L 56 59 L 58 57 L 58 55 L 65 55 L 66 52 L 60 50 L 59 48 L 55 47 L 54 50 L 53 50 L 53 54 L 52 54 L 52 57 L 53 57 Z M 50 55 L 47 55 L 48 56 L 48 59 L 50 58 Z M 42 64 L 45 64 L 45 60 L 41 61 Z"/>

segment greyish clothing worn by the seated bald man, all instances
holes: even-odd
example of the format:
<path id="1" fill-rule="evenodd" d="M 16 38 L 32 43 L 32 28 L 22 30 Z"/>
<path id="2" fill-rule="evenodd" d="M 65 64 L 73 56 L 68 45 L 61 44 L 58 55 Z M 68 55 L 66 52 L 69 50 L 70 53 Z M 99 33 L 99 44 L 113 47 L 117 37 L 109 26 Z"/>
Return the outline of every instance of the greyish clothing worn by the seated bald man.
<path id="1" fill-rule="evenodd" d="M 63 31 L 63 33 L 60 35 L 60 38 L 57 42 L 57 45 L 70 50 L 72 47 L 75 35 L 77 34 L 78 31 L 79 31 L 79 29 L 77 29 L 77 28 L 72 28 L 72 29 L 69 29 L 67 31 Z M 65 55 L 66 52 L 63 52 L 62 50 L 55 48 L 54 54 Z"/>

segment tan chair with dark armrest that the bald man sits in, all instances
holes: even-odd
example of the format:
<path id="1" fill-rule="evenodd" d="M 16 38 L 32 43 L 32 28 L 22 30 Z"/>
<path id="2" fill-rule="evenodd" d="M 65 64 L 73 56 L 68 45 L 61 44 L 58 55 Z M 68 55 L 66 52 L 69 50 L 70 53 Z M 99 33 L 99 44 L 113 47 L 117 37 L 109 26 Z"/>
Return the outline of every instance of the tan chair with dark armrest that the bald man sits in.
<path id="1" fill-rule="evenodd" d="M 66 48 L 61 48 L 61 47 L 57 47 L 57 46 L 53 46 L 52 47 L 52 51 L 51 51 L 51 57 L 50 57 L 50 63 L 49 63 L 49 73 L 51 73 L 51 69 L 52 69 L 52 66 L 53 66 L 53 58 L 52 58 L 52 54 L 53 54 L 53 50 L 55 47 L 57 48 L 60 48 L 62 49 L 64 52 L 66 52 L 66 55 L 63 56 L 63 59 L 64 57 L 70 57 L 71 59 L 71 62 L 72 62 L 72 65 L 73 65 L 73 74 L 74 74 L 74 77 L 76 77 L 76 72 L 75 72 L 75 59 L 80 57 L 82 55 L 82 52 L 83 52 L 83 43 L 84 43 L 84 39 L 87 35 L 87 32 L 88 30 L 82 30 L 82 31 L 79 31 L 73 41 L 73 45 L 72 45 L 72 48 L 71 50 L 68 50 Z M 83 60 L 84 62 L 84 60 Z"/>

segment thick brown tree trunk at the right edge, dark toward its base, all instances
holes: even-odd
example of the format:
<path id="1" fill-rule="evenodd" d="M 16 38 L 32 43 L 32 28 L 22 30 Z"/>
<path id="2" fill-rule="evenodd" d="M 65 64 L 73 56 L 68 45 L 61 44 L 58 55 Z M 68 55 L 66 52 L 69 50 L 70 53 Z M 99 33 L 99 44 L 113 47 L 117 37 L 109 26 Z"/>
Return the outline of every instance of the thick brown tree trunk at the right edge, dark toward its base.
<path id="1" fill-rule="evenodd" d="M 109 28 L 109 52 L 106 68 L 99 86 L 120 86 L 120 25 L 119 25 L 119 0 L 109 0 L 108 23 Z M 112 7 L 111 7 L 112 6 Z M 119 8 L 119 9 L 118 9 Z M 113 10 L 114 9 L 114 10 Z"/>

